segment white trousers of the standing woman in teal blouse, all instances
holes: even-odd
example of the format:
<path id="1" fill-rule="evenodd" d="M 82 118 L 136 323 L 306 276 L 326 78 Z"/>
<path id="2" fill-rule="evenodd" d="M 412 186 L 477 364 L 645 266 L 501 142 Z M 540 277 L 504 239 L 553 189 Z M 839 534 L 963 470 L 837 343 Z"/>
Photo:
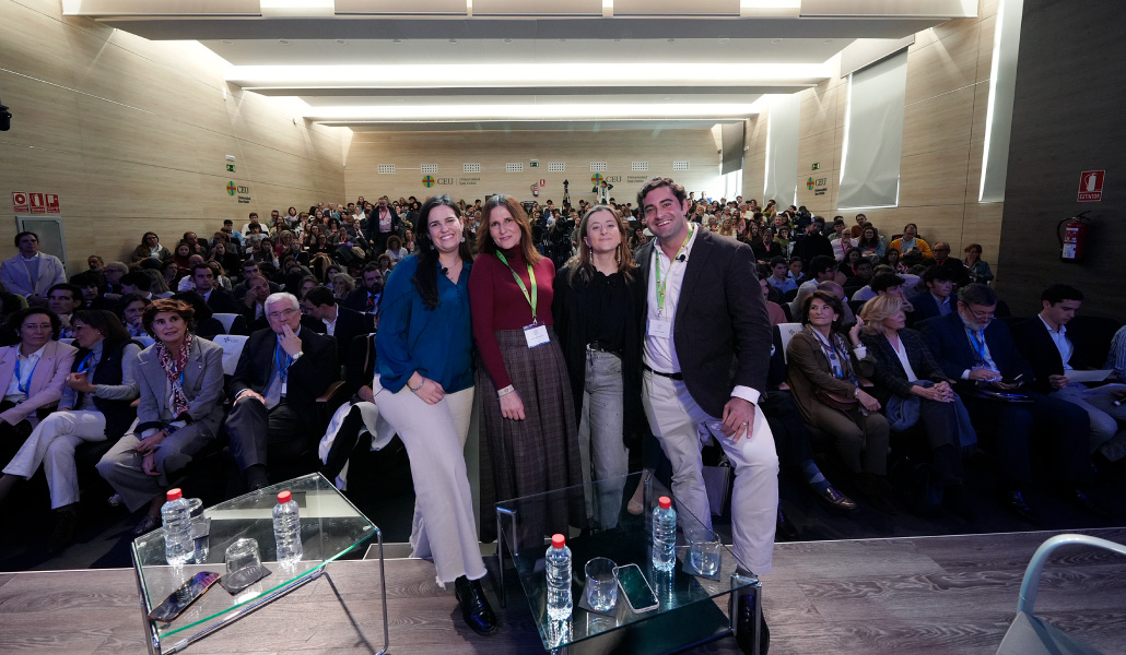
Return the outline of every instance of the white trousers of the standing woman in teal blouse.
<path id="1" fill-rule="evenodd" d="M 434 560 L 438 584 L 462 575 L 485 575 L 473 515 L 473 493 L 465 470 L 465 439 L 473 412 L 473 388 L 447 393 L 427 404 L 403 386 L 392 393 L 376 388 L 375 404 L 406 447 L 414 479 L 412 557 Z"/>

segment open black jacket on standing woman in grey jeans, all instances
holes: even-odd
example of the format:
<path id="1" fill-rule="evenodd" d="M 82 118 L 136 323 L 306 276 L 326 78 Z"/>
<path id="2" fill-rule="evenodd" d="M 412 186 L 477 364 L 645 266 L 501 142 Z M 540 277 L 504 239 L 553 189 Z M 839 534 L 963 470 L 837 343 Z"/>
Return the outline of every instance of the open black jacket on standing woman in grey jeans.
<path id="1" fill-rule="evenodd" d="M 587 306 L 584 297 L 589 282 L 581 275 L 575 275 L 571 282 L 571 270 L 574 264 L 564 266 L 555 274 L 554 299 L 552 315 L 555 319 L 555 335 L 560 339 L 563 360 L 566 362 L 568 375 L 571 379 L 571 392 L 574 395 L 575 420 L 582 417 L 582 394 L 587 382 L 587 340 L 588 317 L 582 308 Z M 627 447 L 640 444 L 644 430 L 649 428 L 645 412 L 641 403 L 642 371 L 642 330 L 638 315 L 645 306 L 645 280 L 637 271 L 633 279 L 626 281 L 628 304 L 623 308 L 626 319 L 622 340 L 622 408 L 623 439 Z"/>

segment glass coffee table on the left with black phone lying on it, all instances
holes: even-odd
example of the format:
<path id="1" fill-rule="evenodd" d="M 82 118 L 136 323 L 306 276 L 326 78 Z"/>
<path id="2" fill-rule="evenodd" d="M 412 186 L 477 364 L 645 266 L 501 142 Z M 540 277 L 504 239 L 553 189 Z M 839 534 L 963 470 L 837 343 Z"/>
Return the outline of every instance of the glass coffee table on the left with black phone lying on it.
<path id="1" fill-rule="evenodd" d="M 274 545 L 274 506 L 280 491 L 291 491 L 301 511 L 304 554 L 294 566 L 277 563 Z M 158 528 L 132 544 L 133 568 L 141 593 L 142 616 L 153 655 L 179 653 L 227 624 L 247 616 L 280 595 L 319 577 L 324 565 L 375 537 L 379 545 L 379 588 L 383 602 L 383 649 L 387 651 L 387 586 L 384 577 L 383 535 L 320 473 L 296 477 L 221 502 L 194 519 L 207 526 L 196 539 L 196 562 L 169 566 L 164 557 L 164 531 Z M 197 530 L 198 533 L 198 530 Z M 184 582 L 202 571 L 226 573 L 224 554 L 240 538 L 258 542 L 261 562 L 270 574 L 236 595 L 215 583 L 170 622 L 149 619 Z"/>

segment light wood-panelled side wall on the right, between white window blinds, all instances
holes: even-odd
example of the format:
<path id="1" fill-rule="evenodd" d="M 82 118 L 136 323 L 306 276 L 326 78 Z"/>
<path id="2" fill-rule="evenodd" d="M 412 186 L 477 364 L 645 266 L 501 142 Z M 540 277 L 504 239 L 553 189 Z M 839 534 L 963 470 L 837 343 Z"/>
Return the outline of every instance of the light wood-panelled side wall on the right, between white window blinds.
<path id="1" fill-rule="evenodd" d="M 995 22 L 997 0 L 980 0 L 977 18 L 915 35 L 908 48 L 899 207 L 864 211 L 882 234 L 899 234 L 904 224 L 915 222 L 929 243 L 950 242 L 956 253 L 978 243 L 991 263 L 998 261 L 1003 204 L 983 204 L 977 197 Z M 848 78 L 801 91 L 801 99 L 797 203 L 829 221 L 840 215 L 852 225 L 857 211 L 837 208 Z M 760 204 L 767 120 L 768 111 L 749 124 L 743 167 L 743 195 Z M 824 194 L 807 189 L 810 178 L 826 179 Z"/>

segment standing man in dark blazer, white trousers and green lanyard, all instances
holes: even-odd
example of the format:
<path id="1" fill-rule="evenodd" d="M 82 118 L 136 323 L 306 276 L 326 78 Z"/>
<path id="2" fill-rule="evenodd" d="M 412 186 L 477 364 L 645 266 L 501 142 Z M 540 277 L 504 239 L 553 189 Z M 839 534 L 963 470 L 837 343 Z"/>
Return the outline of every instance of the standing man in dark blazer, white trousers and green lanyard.
<path id="1" fill-rule="evenodd" d="M 700 465 L 700 430 L 712 433 L 735 466 L 732 500 L 734 551 L 744 572 L 772 566 L 778 509 L 778 455 L 759 394 L 767 389 L 771 330 L 758 284 L 754 254 L 745 244 L 688 225 L 683 187 L 654 178 L 637 200 L 654 240 L 637 249 L 646 282 L 642 401 L 650 427 L 672 462 L 672 492 L 711 530 Z M 707 338 L 699 338 L 706 334 Z M 739 635 L 753 633 L 745 602 Z M 761 633 L 766 635 L 765 624 Z"/>

